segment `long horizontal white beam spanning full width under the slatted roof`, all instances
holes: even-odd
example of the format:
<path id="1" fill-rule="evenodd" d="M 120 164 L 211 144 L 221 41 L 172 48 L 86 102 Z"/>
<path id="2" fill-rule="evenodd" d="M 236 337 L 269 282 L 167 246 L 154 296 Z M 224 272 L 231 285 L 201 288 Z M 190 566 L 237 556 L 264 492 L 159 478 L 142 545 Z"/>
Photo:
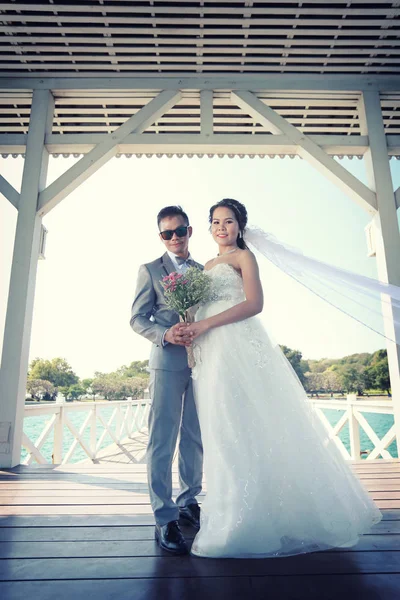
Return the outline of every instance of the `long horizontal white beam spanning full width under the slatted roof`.
<path id="1" fill-rule="evenodd" d="M 104 29 L 102 30 L 104 31 Z M 154 33 L 154 32 L 153 32 Z M 121 73 L 108 73 L 106 77 L 59 77 L 31 75 L 24 73 L 22 77 L 0 75 L 0 89 L 24 90 L 257 90 L 257 91 L 362 91 L 382 90 L 386 92 L 400 91 L 400 75 L 321 75 L 307 74 L 299 77 L 296 74 L 268 75 L 232 74 L 215 75 L 183 75 L 131 77 Z"/>

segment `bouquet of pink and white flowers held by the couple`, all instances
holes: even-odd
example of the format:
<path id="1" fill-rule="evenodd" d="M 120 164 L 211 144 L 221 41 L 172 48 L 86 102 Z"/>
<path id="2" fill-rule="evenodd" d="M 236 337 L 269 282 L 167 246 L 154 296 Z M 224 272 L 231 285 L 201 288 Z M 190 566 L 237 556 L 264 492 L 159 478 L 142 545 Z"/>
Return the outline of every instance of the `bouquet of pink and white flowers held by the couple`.
<path id="1" fill-rule="evenodd" d="M 185 273 L 173 272 L 163 277 L 165 303 L 171 310 L 179 314 L 184 323 L 193 322 L 190 309 L 196 304 L 207 302 L 211 295 L 211 278 L 196 267 L 189 267 Z M 193 349 L 186 347 L 188 364 L 195 365 Z"/>

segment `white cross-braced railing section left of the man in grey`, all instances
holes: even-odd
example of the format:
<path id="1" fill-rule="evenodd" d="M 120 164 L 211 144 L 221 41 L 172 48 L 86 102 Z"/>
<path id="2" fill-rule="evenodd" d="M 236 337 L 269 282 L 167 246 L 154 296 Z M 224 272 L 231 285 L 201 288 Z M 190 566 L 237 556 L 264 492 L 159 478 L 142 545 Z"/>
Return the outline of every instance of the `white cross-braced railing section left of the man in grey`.
<path id="1" fill-rule="evenodd" d="M 53 431 L 52 463 L 64 465 L 70 462 L 79 446 L 88 458 L 95 461 L 107 435 L 119 445 L 124 440 L 132 439 L 147 426 L 150 404 L 150 400 L 124 400 L 25 406 L 25 417 L 48 416 L 50 418 L 44 424 L 35 442 L 25 432 L 22 434 L 22 447 L 27 451 L 27 456 L 21 464 L 30 465 L 34 461 L 40 464 L 50 462 L 43 456 L 41 450 Z M 106 417 L 103 414 L 105 408 L 108 411 L 111 409 L 111 416 Z M 69 418 L 72 413 L 77 412 L 88 413 L 79 429 Z M 101 427 L 101 433 L 98 426 Z M 89 441 L 84 439 L 87 430 L 89 430 Z M 65 449 L 67 431 L 72 435 L 72 442 Z"/>

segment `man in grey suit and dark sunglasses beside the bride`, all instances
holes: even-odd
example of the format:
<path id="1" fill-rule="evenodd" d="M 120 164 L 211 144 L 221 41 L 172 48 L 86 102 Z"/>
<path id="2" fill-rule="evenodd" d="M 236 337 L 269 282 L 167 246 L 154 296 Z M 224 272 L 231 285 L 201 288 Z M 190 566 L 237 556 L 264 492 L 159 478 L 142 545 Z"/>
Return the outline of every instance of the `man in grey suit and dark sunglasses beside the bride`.
<path id="1" fill-rule="evenodd" d="M 173 554 L 186 554 L 188 548 L 178 519 L 200 527 L 203 447 L 193 399 L 191 370 L 185 346 L 190 340 L 179 316 L 170 310 L 160 283 L 163 277 L 189 266 L 203 267 L 189 255 L 192 228 L 180 206 L 167 206 L 158 216 L 159 236 L 166 252 L 139 269 L 132 305 L 131 327 L 153 342 L 150 354 L 149 442 L 147 474 L 158 544 Z M 172 461 L 178 437 L 180 493 L 172 500 Z"/>

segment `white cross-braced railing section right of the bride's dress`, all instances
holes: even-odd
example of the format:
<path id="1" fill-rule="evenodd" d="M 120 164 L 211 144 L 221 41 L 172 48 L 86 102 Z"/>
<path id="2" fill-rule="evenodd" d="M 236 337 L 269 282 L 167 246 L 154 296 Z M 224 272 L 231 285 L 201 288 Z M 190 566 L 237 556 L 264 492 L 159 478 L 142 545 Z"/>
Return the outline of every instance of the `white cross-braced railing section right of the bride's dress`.
<path id="1" fill-rule="evenodd" d="M 393 415 L 393 404 L 390 400 L 358 400 L 355 394 L 349 394 L 347 401 L 310 399 L 310 402 L 325 425 L 329 437 L 334 440 L 344 458 L 347 460 L 358 460 L 362 455 L 367 455 L 366 460 L 373 460 L 380 456 L 386 459 L 393 458 L 388 447 L 396 439 L 394 425 L 392 425 L 383 438 L 379 438 L 363 415 L 363 413 Z M 344 410 L 344 414 L 340 417 L 336 425 L 331 425 L 323 412 L 324 409 Z M 346 423 L 349 424 L 350 452 L 339 437 Z M 361 448 L 360 428 L 364 430 L 374 445 L 374 448 L 370 452 Z"/>

